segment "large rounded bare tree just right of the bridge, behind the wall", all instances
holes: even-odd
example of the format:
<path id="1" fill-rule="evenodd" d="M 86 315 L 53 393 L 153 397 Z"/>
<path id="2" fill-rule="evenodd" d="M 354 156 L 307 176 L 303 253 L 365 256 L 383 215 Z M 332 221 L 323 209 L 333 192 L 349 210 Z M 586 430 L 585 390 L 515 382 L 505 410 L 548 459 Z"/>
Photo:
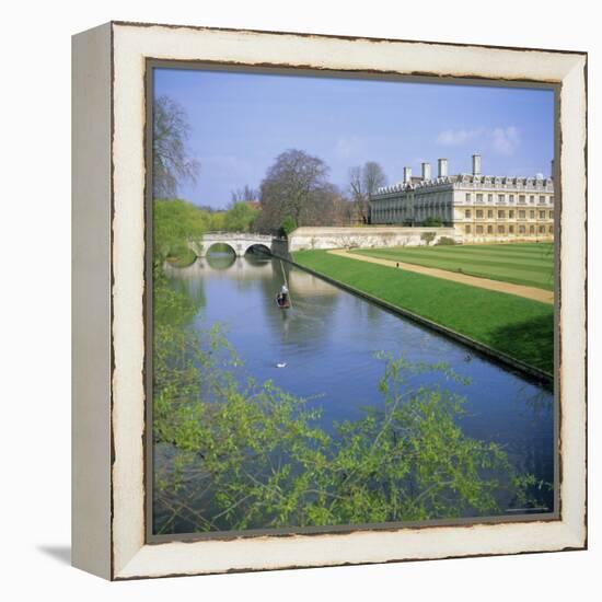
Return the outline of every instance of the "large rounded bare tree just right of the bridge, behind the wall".
<path id="1" fill-rule="evenodd" d="M 276 231 L 285 218 L 297 225 L 323 222 L 321 212 L 333 195 L 327 175 L 328 166 L 317 157 L 297 149 L 279 154 L 262 182 L 256 228 Z"/>

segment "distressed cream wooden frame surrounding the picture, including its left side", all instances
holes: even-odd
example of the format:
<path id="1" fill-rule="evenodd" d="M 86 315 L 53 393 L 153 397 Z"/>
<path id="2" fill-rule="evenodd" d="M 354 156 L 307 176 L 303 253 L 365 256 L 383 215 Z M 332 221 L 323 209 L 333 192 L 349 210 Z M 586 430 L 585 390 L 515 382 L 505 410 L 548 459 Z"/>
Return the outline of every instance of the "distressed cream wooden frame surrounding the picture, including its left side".
<path id="1" fill-rule="evenodd" d="M 559 86 L 559 517 L 146 541 L 148 59 Z M 113 22 L 73 37 L 73 565 L 123 580 L 587 545 L 587 55 Z"/>

